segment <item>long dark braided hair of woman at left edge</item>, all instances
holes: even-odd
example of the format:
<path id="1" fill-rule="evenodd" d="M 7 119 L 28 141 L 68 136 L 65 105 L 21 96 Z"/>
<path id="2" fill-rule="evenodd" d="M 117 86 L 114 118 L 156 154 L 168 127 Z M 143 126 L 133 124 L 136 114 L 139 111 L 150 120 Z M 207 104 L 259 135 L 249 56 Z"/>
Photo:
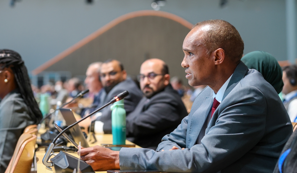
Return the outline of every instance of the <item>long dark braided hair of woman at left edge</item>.
<path id="1" fill-rule="evenodd" d="M 2 69 L 10 68 L 14 73 L 17 88 L 29 109 L 29 115 L 35 123 L 38 123 L 42 118 L 42 114 L 34 99 L 28 71 L 20 54 L 13 50 L 0 50 L 0 65 Z"/>

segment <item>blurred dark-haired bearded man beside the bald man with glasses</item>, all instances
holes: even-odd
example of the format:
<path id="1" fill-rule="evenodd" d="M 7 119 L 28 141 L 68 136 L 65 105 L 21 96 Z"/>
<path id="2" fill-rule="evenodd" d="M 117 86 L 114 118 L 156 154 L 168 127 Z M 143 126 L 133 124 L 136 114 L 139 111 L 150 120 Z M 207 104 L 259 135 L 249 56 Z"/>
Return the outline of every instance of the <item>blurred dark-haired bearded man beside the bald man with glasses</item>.
<path id="1" fill-rule="evenodd" d="M 127 72 L 124 70 L 123 65 L 117 60 L 105 61 L 100 70 L 100 79 L 105 92 L 101 95 L 99 107 L 107 104 L 113 97 L 121 92 L 128 91 L 129 96 L 124 99 L 124 109 L 126 115 L 132 112 L 143 94 L 137 87 L 135 82 L 127 77 Z M 110 106 L 105 107 L 97 113 L 97 119 L 94 122 L 95 132 L 111 133 L 111 110 Z"/>

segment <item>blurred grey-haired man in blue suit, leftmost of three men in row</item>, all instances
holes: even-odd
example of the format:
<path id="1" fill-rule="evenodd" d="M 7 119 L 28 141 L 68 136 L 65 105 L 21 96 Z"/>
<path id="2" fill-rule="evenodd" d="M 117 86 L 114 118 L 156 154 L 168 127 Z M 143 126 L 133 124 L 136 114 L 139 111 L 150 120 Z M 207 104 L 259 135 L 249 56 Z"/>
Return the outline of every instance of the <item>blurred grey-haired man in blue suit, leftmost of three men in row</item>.
<path id="1" fill-rule="evenodd" d="M 81 111 L 80 115 L 88 115 L 90 112 L 93 112 L 94 109 L 100 104 L 100 98 L 104 92 L 102 83 L 100 81 L 100 69 L 102 62 L 94 62 L 89 65 L 86 71 L 85 84 L 86 88 L 89 89 L 89 95 L 94 97 L 93 103 L 90 105 L 90 108 L 85 108 Z"/>

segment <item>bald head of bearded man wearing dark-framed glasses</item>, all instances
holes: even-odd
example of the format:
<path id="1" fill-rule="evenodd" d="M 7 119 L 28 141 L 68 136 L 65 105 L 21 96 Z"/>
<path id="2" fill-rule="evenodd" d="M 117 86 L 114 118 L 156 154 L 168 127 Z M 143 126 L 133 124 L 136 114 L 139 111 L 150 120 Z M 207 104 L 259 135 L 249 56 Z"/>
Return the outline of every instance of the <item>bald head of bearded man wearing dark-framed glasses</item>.
<path id="1" fill-rule="evenodd" d="M 164 90 L 169 84 L 168 66 L 160 59 L 149 59 L 140 66 L 140 89 L 147 98 Z"/>

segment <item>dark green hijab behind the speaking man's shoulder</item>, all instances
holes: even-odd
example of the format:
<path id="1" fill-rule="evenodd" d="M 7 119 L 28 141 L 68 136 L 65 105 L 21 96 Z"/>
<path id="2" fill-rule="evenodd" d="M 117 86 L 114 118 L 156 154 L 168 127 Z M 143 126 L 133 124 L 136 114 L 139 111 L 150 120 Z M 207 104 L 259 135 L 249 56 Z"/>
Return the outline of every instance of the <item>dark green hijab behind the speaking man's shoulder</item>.
<path id="1" fill-rule="evenodd" d="M 282 87 L 284 86 L 282 82 L 282 68 L 271 54 L 263 51 L 254 51 L 244 55 L 241 61 L 249 69 L 255 69 L 260 72 L 277 93 L 282 91 Z"/>

